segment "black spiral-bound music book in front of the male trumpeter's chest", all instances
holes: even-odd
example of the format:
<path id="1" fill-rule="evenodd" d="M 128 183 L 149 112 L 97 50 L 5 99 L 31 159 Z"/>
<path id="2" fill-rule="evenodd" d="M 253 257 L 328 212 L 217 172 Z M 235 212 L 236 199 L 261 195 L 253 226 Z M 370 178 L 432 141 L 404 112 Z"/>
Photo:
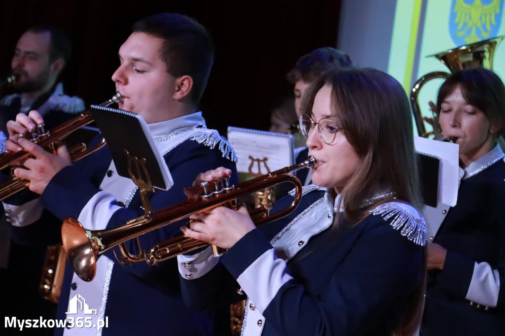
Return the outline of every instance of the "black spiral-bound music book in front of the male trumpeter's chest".
<path id="1" fill-rule="evenodd" d="M 91 115 L 107 142 L 120 176 L 130 178 L 126 150 L 130 156 L 145 158 L 145 167 L 153 187 L 168 190 L 174 185 L 153 134 L 141 116 L 99 105 L 91 105 Z"/>

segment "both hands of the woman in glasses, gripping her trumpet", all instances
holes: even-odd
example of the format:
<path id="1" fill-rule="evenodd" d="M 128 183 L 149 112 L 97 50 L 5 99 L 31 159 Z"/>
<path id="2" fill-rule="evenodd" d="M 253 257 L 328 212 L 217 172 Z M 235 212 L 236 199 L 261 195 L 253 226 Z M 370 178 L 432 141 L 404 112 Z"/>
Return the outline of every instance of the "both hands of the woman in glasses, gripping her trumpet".
<path id="1" fill-rule="evenodd" d="M 201 173 L 196 177 L 192 187 L 185 189 L 184 193 L 188 197 L 197 198 L 203 190 L 200 187 L 201 182 L 212 182 L 216 178 L 222 179 L 230 175 L 231 171 L 224 167 Z M 189 229 L 181 227 L 184 235 L 225 249 L 231 248 L 245 234 L 256 228 L 243 204 L 237 211 L 218 206 L 196 213 L 189 219 Z"/>

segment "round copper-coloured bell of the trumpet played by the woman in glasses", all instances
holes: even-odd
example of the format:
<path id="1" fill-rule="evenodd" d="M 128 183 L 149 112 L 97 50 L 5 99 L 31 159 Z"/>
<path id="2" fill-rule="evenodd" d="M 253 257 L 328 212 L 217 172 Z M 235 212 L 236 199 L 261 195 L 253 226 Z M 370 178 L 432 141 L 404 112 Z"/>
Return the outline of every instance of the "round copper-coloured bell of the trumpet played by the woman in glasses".
<path id="1" fill-rule="evenodd" d="M 74 271 L 84 281 L 91 281 L 96 273 L 97 254 L 87 230 L 75 218 L 67 218 L 62 225 L 62 241 L 65 253 Z M 76 256 L 79 256 L 78 258 Z"/>

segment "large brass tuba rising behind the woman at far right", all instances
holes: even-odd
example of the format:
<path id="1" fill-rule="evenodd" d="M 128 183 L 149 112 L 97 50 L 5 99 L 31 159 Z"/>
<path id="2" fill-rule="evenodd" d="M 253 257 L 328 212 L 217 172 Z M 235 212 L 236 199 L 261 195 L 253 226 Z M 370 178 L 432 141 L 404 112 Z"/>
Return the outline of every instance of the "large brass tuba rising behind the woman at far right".
<path id="1" fill-rule="evenodd" d="M 427 132 L 425 127 L 425 121 L 419 107 L 418 95 L 421 87 L 428 81 L 435 78 L 448 78 L 452 73 L 459 70 L 469 69 L 469 68 L 485 68 L 493 69 L 493 57 L 496 46 L 505 37 L 498 36 L 488 40 L 475 42 L 468 45 L 463 45 L 457 48 L 445 50 L 428 57 L 436 57 L 440 62 L 442 62 L 450 71 L 450 73 L 435 71 L 421 77 L 411 90 L 411 106 L 414 113 L 414 118 L 416 120 L 416 127 L 419 136 L 429 137 L 435 136 L 438 139 L 441 130 L 439 129 L 438 116 L 436 111 L 432 111 L 433 116 L 431 116 L 433 131 Z"/>

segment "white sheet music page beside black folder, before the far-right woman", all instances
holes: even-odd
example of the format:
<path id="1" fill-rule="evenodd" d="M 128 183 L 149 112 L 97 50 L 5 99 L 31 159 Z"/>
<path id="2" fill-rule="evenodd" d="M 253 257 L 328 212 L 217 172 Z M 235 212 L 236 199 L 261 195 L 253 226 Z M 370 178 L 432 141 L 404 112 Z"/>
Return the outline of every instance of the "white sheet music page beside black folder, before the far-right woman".
<path id="1" fill-rule="evenodd" d="M 459 149 L 456 143 L 443 142 L 414 137 L 414 145 L 418 153 L 434 156 L 440 159 L 438 177 L 439 202 L 455 206 L 459 189 Z"/>

